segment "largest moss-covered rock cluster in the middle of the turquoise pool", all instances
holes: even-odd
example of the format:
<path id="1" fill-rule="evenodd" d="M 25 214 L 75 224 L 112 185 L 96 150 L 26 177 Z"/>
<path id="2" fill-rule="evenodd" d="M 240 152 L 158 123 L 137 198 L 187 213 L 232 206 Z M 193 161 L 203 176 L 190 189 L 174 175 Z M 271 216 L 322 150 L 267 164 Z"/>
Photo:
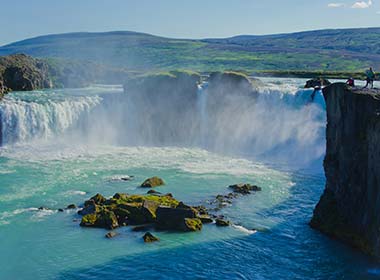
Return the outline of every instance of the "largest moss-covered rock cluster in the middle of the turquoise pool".
<path id="1" fill-rule="evenodd" d="M 85 201 L 80 225 L 115 229 L 120 226 L 138 225 L 135 231 L 145 230 L 153 225 L 158 230 L 181 232 L 199 231 L 207 212 L 202 207 L 191 207 L 166 195 L 128 195 L 116 193 L 106 199 L 97 194 Z M 197 210 L 199 209 L 199 210 Z M 202 216 L 202 219 L 201 219 Z M 212 221 L 211 221 L 212 222 Z"/>

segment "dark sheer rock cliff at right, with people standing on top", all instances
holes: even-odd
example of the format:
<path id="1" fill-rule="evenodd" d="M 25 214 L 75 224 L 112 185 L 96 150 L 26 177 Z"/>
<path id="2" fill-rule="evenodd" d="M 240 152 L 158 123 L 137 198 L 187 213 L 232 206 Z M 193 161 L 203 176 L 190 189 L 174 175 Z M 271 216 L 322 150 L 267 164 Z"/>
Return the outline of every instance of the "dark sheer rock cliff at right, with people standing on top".
<path id="1" fill-rule="evenodd" d="M 380 91 L 336 83 L 323 94 L 327 182 L 310 225 L 380 257 Z"/>

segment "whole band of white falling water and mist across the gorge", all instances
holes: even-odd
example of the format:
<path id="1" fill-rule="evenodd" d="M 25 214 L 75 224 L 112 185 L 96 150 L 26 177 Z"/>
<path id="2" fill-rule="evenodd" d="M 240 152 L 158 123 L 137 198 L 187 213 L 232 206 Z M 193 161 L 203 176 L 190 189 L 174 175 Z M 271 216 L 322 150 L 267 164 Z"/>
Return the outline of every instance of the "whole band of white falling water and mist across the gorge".
<path id="1" fill-rule="evenodd" d="M 208 85 L 203 83 L 194 109 L 181 119 L 167 110 L 168 100 L 158 100 L 158 109 L 152 111 L 146 100 L 135 102 L 120 88 L 11 93 L 0 103 L 2 145 L 62 141 L 70 132 L 73 148 L 83 144 L 198 146 L 271 164 L 320 163 L 325 146 L 323 97 L 319 94 L 310 103 L 311 91 L 300 89 L 304 80 L 278 80 L 265 81 L 257 99 L 228 96 L 228 102 L 217 109 L 210 107 Z M 180 99 L 170 102 L 173 108 L 188 105 Z"/>

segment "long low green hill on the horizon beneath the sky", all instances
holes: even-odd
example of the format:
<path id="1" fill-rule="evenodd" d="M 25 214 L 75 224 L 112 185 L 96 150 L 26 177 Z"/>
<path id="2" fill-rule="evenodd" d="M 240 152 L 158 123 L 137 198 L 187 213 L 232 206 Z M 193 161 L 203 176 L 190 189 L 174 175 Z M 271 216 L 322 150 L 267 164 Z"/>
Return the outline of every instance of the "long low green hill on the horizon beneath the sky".
<path id="1" fill-rule="evenodd" d="M 380 69 L 380 28 L 185 40 L 118 31 L 46 35 L 0 47 L 0 55 L 86 60 L 130 70 L 361 71 Z"/>

